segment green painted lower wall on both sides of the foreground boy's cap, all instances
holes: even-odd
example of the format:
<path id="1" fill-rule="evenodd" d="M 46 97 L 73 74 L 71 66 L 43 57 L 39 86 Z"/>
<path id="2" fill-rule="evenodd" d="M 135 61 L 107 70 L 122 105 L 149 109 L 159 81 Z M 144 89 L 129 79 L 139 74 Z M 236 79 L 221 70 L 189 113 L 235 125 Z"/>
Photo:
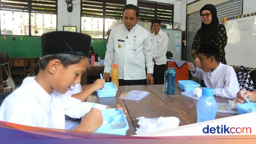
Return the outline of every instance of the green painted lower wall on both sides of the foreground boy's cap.
<path id="1" fill-rule="evenodd" d="M 13 41 L 13 38 L 16 40 Z M 0 35 L 0 53 L 8 53 L 9 57 L 41 57 L 41 37 L 7 35 L 4 40 Z M 92 39 L 93 51 L 98 53 L 101 59 L 104 59 L 106 52 L 105 39 Z"/>

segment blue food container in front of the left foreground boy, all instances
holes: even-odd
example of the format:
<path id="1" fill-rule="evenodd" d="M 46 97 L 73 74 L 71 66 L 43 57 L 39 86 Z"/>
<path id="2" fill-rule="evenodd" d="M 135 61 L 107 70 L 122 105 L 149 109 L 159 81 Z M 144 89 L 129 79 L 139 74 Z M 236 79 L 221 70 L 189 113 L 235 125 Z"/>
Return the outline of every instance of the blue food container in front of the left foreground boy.
<path id="1" fill-rule="evenodd" d="M 101 114 L 103 116 L 103 124 L 94 131 L 95 133 L 126 135 L 129 125 L 121 109 L 104 109 Z"/>

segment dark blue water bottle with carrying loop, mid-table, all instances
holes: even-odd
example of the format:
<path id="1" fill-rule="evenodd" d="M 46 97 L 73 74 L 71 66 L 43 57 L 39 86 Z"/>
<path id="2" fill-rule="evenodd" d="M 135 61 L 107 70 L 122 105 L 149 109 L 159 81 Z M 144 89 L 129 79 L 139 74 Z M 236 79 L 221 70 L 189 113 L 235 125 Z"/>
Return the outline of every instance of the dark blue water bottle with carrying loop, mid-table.
<path id="1" fill-rule="evenodd" d="M 174 68 L 165 71 L 165 94 L 174 94 L 176 72 Z"/>

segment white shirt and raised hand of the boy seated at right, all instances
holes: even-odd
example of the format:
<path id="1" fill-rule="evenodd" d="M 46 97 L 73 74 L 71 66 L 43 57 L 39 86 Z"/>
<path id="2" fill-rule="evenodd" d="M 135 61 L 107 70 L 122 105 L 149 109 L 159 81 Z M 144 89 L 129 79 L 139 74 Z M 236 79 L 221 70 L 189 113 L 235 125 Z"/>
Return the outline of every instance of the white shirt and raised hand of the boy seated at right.
<path id="1" fill-rule="evenodd" d="M 204 80 L 206 87 L 213 88 L 215 96 L 236 99 L 236 93 L 240 90 L 234 68 L 221 62 L 213 72 L 197 68 L 197 72 L 193 74 L 191 71 L 191 74 Z"/>

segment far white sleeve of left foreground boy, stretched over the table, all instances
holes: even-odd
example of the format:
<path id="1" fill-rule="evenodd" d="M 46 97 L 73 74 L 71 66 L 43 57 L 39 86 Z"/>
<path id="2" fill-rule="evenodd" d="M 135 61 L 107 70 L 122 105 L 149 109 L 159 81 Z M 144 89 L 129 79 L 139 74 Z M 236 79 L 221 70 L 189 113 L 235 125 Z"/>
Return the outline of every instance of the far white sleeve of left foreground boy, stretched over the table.
<path id="1" fill-rule="evenodd" d="M 90 102 L 82 102 L 76 98 L 66 98 L 62 99 L 64 113 L 72 118 L 81 118 L 86 113 L 91 111 L 93 108 L 93 103 Z M 94 108 L 98 110 L 106 109 L 107 105 L 101 105 L 98 103 L 94 104 Z"/>

